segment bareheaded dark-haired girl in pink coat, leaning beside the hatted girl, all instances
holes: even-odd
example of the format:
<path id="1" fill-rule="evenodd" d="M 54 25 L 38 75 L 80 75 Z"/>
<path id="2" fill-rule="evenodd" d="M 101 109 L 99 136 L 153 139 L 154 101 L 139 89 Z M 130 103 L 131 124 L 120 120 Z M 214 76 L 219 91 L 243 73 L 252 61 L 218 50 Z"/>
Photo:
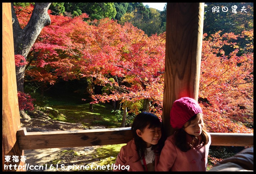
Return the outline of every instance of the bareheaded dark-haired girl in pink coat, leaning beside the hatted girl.
<path id="1" fill-rule="evenodd" d="M 164 145 L 162 122 L 153 113 L 141 112 L 131 130 L 134 138 L 121 148 L 114 164 L 121 167 L 113 171 L 155 171 Z"/>

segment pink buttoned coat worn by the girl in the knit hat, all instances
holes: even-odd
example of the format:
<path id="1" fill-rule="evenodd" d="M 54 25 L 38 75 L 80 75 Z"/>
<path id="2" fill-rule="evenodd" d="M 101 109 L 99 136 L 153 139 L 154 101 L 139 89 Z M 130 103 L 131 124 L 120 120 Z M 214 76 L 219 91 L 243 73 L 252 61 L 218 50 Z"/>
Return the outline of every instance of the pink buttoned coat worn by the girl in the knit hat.
<path id="1" fill-rule="evenodd" d="M 197 145 L 187 152 L 181 151 L 174 145 L 174 135 L 169 136 L 165 141 L 155 171 L 206 171 L 207 157 L 211 144 L 209 133 L 208 136 L 209 142 L 206 146 Z M 192 138 L 187 136 L 187 140 L 191 142 Z"/>

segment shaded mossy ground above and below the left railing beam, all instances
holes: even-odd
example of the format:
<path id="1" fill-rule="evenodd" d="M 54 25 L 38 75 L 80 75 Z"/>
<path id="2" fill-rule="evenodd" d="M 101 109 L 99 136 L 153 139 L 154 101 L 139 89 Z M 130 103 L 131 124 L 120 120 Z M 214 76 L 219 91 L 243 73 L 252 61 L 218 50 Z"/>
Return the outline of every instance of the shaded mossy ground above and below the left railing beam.
<path id="1" fill-rule="evenodd" d="M 59 130 L 79 130 L 68 129 L 66 127 L 56 126 L 54 121 L 63 121 L 67 123 L 79 123 L 84 126 L 104 126 L 105 128 L 119 127 L 120 123 L 116 121 L 115 115 L 111 113 L 113 108 L 108 103 L 94 104 L 94 111 L 89 111 L 89 101 L 84 96 L 84 91 L 75 87 L 67 86 L 66 82 L 61 85 L 62 91 L 54 90 L 48 92 L 45 96 L 44 107 L 40 111 L 46 113 L 46 120 L 41 123 L 42 115 L 34 114 L 32 121 L 21 119 L 21 126 L 26 127 L 28 132 L 36 131 L 59 131 Z M 64 87 L 68 91 L 64 91 Z M 54 88 L 52 88 L 54 89 Z M 50 91 L 50 90 L 49 90 Z M 46 93 L 45 93 L 46 94 Z M 31 115 L 30 115 L 31 116 Z M 41 118 L 40 118 L 41 117 Z M 34 119 L 34 120 L 33 120 Z M 50 121 L 47 123 L 46 121 Z M 82 129 L 80 129 L 82 130 Z M 60 142 L 61 143 L 61 142 Z M 52 148 L 24 150 L 27 166 L 37 166 L 28 168 L 27 171 L 111 171 L 108 169 L 95 169 L 95 166 L 108 165 L 115 162 L 116 156 L 122 145 L 74 147 L 74 148 Z M 47 168 L 45 169 L 45 166 Z M 39 167 L 40 166 L 40 167 Z M 69 168 L 68 168 L 69 166 Z M 81 166 L 93 166 L 93 169 L 80 169 Z M 77 168 L 78 167 L 78 168 Z M 40 169 L 39 169 L 40 168 Z M 43 169 L 42 169 L 43 168 Z"/>

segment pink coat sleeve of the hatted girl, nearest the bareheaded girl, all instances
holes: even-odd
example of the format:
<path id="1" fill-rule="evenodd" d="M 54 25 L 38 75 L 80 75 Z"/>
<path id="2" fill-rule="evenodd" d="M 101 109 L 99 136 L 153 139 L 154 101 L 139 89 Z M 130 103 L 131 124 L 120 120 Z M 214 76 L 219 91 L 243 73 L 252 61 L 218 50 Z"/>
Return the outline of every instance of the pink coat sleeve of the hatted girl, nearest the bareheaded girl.
<path id="1" fill-rule="evenodd" d="M 160 159 L 155 171 L 170 171 L 176 156 L 177 152 L 174 144 L 169 139 L 167 139 L 165 141 L 164 148 L 161 151 Z"/>

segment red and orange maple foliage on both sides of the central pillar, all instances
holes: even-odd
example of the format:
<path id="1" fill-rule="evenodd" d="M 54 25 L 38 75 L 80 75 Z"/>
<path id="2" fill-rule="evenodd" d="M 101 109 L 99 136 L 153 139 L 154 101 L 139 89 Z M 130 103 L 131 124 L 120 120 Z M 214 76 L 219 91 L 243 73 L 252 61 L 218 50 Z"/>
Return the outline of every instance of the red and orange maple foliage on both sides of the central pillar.
<path id="1" fill-rule="evenodd" d="M 22 25 L 28 16 L 19 13 Z M 165 33 L 148 37 L 130 23 L 84 21 L 87 14 L 50 16 L 51 25 L 31 49 L 25 75 L 45 84 L 93 79 L 105 92 L 92 95 L 94 103 L 150 99 L 150 111 L 162 114 Z M 248 43 L 237 45 L 239 37 Z M 226 55 L 227 46 L 233 50 Z M 210 132 L 253 133 L 253 30 L 204 38 L 199 103 Z"/>

